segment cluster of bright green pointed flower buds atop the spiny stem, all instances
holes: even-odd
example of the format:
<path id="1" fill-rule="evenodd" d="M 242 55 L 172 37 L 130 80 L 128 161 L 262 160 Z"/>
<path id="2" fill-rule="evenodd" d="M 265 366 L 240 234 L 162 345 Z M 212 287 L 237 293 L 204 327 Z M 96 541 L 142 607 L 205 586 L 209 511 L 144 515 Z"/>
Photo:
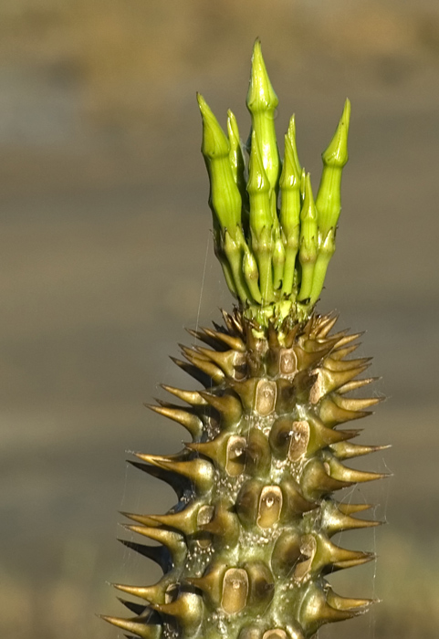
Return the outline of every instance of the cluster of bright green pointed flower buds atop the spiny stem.
<path id="1" fill-rule="evenodd" d="M 284 161 L 275 131 L 277 95 L 267 75 L 260 41 L 253 50 L 246 105 L 252 127 L 246 147 L 232 111 L 227 135 L 198 95 L 202 152 L 210 179 L 214 247 L 228 287 L 248 316 L 262 324 L 293 310 L 306 318 L 319 299 L 335 250 L 341 173 L 348 162 L 350 101 L 322 154 L 316 199 L 309 173 L 298 161 L 294 115 L 285 135 Z M 248 155 L 248 162 L 245 156 Z"/>

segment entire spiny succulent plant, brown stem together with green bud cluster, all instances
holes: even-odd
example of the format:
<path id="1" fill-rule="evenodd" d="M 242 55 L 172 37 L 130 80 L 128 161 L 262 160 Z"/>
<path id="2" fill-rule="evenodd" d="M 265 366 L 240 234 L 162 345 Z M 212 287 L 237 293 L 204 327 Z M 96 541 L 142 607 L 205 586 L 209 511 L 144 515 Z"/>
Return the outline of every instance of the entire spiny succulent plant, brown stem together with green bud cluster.
<path id="1" fill-rule="evenodd" d="M 371 603 L 336 594 L 327 576 L 374 559 L 333 536 L 379 524 L 356 517 L 369 506 L 335 494 L 383 477 L 345 465 L 382 450 L 353 444 L 360 431 L 346 426 L 380 401 L 350 395 L 373 381 L 359 378 L 369 359 L 347 359 L 360 334 L 331 333 L 337 317 L 314 310 L 335 250 L 350 104 L 323 153 L 314 200 L 294 117 L 280 162 L 277 96 L 259 41 L 247 94 L 247 181 L 235 116 L 229 111 L 225 135 L 198 102 L 215 253 L 238 307 L 224 313 L 224 326 L 190 331 L 205 346 L 182 347 L 186 361 L 174 360 L 204 389 L 163 386 L 186 405 L 151 406 L 191 441 L 172 456 L 137 454 L 133 465 L 167 482 L 178 502 L 165 514 L 125 513 L 135 522 L 126 529 L 161 545 L 123 543 L 163 576 L 115 584 L 141 603 L 122 601 L 130 619 L 105 619 L 130 639 L 309 639 Z"/>

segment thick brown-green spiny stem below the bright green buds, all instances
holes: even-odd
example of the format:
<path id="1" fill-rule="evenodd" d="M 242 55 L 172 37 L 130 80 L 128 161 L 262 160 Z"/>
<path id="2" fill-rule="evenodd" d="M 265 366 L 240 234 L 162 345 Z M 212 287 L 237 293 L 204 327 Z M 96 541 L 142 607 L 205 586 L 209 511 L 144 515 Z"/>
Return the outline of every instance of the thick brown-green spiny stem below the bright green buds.
<path id="1" fill-rule="evenodd" d="M 209 348 L 183 354 L 205 374 L 205 390 L 165 387 L 189 407 L 152 406 L 192 441 L 173 456 L 138 454 L 135 464 L 170 483 L 179 502 L 165 515 L 126 513 L 135 522 L 127 529 L 162 546 L 124 543 L 164 574 L 152 586 L 117 584 L 144 602 L 132 619 L 110 623 L 156 639 L 307 639 L 368 608 L 326 581 L 373 559 L 331 538 L 379 523 L 353 517 L 364 508 L 333 493 L 382 477 L 344 465 L 381 449 L 350 443 L 359 431 L 345 427 L 379 400 L 346 397 L 372 380 L 357 379 L 368 359 L 345 359 L 358 334 L 329 333 L 335 319 L 265 328 L 235 310 L 225 328 L 193 332 Z"/>

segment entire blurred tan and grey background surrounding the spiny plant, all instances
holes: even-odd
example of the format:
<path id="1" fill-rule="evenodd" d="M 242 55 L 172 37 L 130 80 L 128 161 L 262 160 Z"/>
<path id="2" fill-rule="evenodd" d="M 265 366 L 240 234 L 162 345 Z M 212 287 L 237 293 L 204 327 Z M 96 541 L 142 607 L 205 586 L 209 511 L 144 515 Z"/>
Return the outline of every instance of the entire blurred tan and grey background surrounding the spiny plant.
<path id="1" fill-rule="evenodd" d="M 142 407 L 190 382 L 168 354 L 184 327 L 231 309 L 210 243 L 195 91 L 246 137 L 251 48 L 262 38 L 302 163 L 346 96 L 350 163 L 320 309 L 367 329 L 376 391 L 355 490 L 389 525 L 351 548 L 376 565 L 335 575 L 383 602 L 320 637 L 437 637 L 439 5 L 435 0 L 1 0 L 0 634 L 109 639 L 123 613 L 106 581 L 159 573 L 116 542 L 117 511 L 172 494 L 128 467 L 183 434 Z M 362 462 L 361 462 L 362 463 Z M 360 462 L 359 462 L 360 464 Z M 121 634 L 120 634 L 121 636 Z"/>

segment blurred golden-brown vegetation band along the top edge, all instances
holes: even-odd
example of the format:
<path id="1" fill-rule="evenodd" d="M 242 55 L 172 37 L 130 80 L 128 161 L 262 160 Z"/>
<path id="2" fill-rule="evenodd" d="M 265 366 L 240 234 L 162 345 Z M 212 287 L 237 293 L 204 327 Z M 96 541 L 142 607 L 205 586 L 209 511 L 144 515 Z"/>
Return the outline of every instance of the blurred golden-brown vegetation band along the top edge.
<path id="1" fill-rule="evenodd" d="M 439 64 L 434 2 L 3 0 L 0 16 L 2 66 L 74 85 L 83 115 L 104 128 L 177 118 L 174 100 L 194 72 L 203 83 L 246 69 L 248 42 L 261 30 L 276 41 L 267 57 L 279 75 L 317 74 L 318 86 L 325 75 L 342 81 L 328 78 L 338 58 L 366 85 L 398 82 L 416 61 Z"/>

